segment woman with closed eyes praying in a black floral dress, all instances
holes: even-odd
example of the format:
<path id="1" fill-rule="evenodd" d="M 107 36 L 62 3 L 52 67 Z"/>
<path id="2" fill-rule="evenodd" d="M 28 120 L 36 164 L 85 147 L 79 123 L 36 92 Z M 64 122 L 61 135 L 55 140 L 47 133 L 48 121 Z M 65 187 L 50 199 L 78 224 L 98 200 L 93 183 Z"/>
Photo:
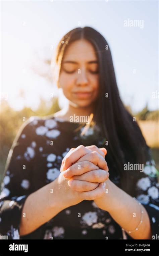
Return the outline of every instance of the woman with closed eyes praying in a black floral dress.
<path id="1" fill-rule="evenodd" d="M 119 97 L 107 41 L 93 28 L 75 28 L 59 42 L 55 64 L 68 107 L 19 130 L 2 183 L 0 233 L 153 239 L 157 170 Z M 142 168 L 125 169 L 130 164 Z"/>

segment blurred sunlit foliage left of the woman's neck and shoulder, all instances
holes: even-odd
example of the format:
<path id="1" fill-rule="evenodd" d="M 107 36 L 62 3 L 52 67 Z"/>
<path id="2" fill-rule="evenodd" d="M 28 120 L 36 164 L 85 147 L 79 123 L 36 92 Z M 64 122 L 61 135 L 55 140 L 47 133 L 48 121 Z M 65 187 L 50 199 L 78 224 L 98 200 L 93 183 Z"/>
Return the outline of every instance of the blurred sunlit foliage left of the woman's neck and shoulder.
<path id="1" fill-rule="evenodd" d="M 2 101 L 0 112 L 0 161 L 5 161 L 12 142 L 23 124 L 23 120 L 27 121 L 31 116 L 44 117 L 59 111 L 58 99 L 52 98 L 52 105 L 48 109 L 47 102 L 41 99 L 41 103 L 36 111 L 29 107 L 24 107 L 20 111 L 13 110 L 7 103 Z"/>

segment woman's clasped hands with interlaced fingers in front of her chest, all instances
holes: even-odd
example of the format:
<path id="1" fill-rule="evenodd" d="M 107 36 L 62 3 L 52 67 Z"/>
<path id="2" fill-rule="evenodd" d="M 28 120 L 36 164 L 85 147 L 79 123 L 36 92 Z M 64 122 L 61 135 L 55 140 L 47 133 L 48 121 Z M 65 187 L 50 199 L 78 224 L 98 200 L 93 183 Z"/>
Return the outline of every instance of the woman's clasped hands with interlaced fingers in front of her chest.
<path id="1" fill-rule="evenodd" d="M 106 154 L 105 148 L 96 146 L 72 148 L 63 158 L 60 168 L 60 172 L 68 179 L 69 187 L 78 192 L 97 190 L 95 198 L 102 196 L 105 193 L 104 182 L 109 177 Z"/>

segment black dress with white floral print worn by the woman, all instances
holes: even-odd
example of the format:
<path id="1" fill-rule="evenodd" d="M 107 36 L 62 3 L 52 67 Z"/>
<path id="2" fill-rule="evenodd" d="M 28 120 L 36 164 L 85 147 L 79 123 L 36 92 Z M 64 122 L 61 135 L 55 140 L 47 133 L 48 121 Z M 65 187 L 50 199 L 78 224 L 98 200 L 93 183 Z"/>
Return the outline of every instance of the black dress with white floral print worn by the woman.
<path id="1" fill-rule="evenodd" d="M 121 227 L 93 200 L 68 207 L 32 233 L 19 236 L 25 200 L 58 177 L 67 152 L 79 145 L 102 145 L 103 138 L 97 136 L 94 140 L 96 136 L 91 127 L 81 136 L 83 129 L 78 123 L 53 116 L 31 117 L 21 126 L 9 151 L 1 186 L 0 235 L 8 235 L 8 239 L 132 239 L 128 234 L 123 235 Z M 110 180 L 120 187 L 115 167 L 112 163 L 108 166 Z M 144 172 L 140 172 L 130 193 L 145 206 L 155 237 L 159 223 L 157 175 L 149 154 Z"/>

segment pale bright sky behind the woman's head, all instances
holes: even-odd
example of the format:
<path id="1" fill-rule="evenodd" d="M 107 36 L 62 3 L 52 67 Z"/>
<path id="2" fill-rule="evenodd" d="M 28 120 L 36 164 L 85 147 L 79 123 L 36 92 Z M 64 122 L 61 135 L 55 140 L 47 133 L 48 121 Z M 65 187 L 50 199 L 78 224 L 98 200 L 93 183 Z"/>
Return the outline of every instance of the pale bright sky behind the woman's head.
<path id="1" fill-rule="evenodd" d="M 141 20 L 144 27 L 124 27 L 128 19 Z M 47 72 L 43 56 L 52 56 L 61 37 L 79 22 L 108 41 L 123 102 L 135 111 L 146 103 L 157 109 L 152 92 L 159 91 L 158 1 L 1 1 L 1 91 L 8 92 L 10 105 L 36 109 L 40 96 L 51 102 L 55 86 L 32 67 Z"/>

